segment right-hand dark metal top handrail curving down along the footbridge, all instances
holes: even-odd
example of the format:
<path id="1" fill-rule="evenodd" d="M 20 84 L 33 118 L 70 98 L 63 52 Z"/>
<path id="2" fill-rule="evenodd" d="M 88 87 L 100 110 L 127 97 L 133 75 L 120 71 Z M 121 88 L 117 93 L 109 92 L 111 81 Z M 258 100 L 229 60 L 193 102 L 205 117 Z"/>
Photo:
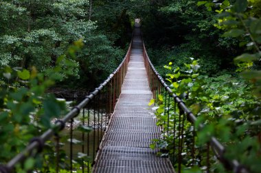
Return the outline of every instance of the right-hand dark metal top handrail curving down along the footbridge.
<path id="1" fill-rule="evenodd" d="M 166 92 L 168 92 L 168 94 L 172 98 L 174 98 L 174 102 L 178 104 L 179 109 L 181 109 L 181 111 L 183 111 L 183 114 L 185 116 L 187 116 L 187 120 L 189 120 L 192 124 L 195 124 L 196 120 L 197 120 L 196 116 L 194 116 L 192 111 L 190 111 L 190 109 L 188 109 L 188 107 L 186 107 L 186 105 L 185 105 L 185 103 L 183 103 L 182 99 L 172 92 L 169 85 L 164 81 L 164 79 L 161 77 L 161 75 L 159 75 L 159 73 L 153 66 L 152 62 L 150 62 L 150 58 L 148 57 L 148 53 L 146 52 L 146 47 L 145 47 L 144 43 L 143 43 L 143 50 L 144 50 L 144 62 L 145 62 L 145 66 L 147 69 L 148 76 L 150 75 L 149 73 L 151 73 L 151 72 L 153 75 L 155 75 L 155 77 L 157 78 L 157 80 L 159 81 L 161 86 L 163 88 L 165 88 Z M 150 69 L 148 69 L 148 68 L 150 68 Z M 148 78 L 150 80 L 150 77 L 148 77 Z M 155 82 L 153 80 L 155 80 L 155 79 L 152 79 L 152 82 Z M 152 90 L 152 92 L 155 91 L 153 89 L 153 86 L 152 86 L 151 90 Z M 153 94 L 153 95 L 155 96 L 155 94 Z M 201 123 L 198 125 L 198 127 L 199 127 L 199 129 L 203 129 L 204 125 Z M 238 161 L 236 161 L 236 160 L 229 161 L 229 160 L 225 159 L 225 157 L 224 157 L 225 147 L 222 144 L 220 144 L 220 142 L 218 142 L 218 139 L 216 139 L 216 137 L 210 137 L 209 143 L 210 143 L 210 146 L 212 146 L 212 151 L 214 152 L 214 155 L 216 155 L 216 157 L 220 160 L 220 162 L 223 163 L 225 168 L 227 168 L 228 170 L 233 170 L 233 172 L 235 172 L 235 173 L 248 173 L 249 172 L 247 170 L 247 168 L 245 168 L 245 166 L 241 165 Z M 180 171 L 181 170 L 179 170 L 179 172 Z"/>

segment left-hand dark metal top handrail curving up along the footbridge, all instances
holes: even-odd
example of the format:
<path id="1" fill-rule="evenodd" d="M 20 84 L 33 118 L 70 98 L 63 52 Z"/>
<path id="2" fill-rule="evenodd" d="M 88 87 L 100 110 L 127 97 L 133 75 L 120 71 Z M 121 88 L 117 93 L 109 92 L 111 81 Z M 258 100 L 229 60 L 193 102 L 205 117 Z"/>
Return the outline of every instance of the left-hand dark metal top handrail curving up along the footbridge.
<path id="1" fill-rule="evenodd" d="M 21 163 L 25 161 L 25 159 L 29 158 L 32 155 L 36 155 L 37 153 L 41 152 L 43 150 L 44 144 L 47 140 L 51 139 L 51 137 L 54 137 L 58 131 L 62 131 L 65 128 L 65 123 L 70 122 L 70 120 L 73 120 L 73 118 L 76 118 L 78 114 L 80 113 L 80 110 L 86 107 L 92 100 L 100 94 L 102 89 L 109 83 L 115 83 L 115 85 L 118 85 L 119 88 L 117 88 L 117 93 L 113 93 L 113 106 L 111 111 L 113 111 L 115 103 L 117 102 L 117 97 L 120 95 L 121 85 L 123 83 L 123 79 L 126 75 L 127 69 L 128 69 L 128 62 L 131 55 L 131 46 L 132 46 L 132 40 L 131 44 L 128 47 L 128 52 L 126 53 L 126 56 L 122 60 L 121 64 L 116 68 L 114 72 L 109 75 L 109 77 L 99 85 L 98 88 L 95 88 L 91 94 L 86 96 L 83 101 L 81 101 L 78 105 L 73 107 L 71 111 L 69 111 L 68 114 L 65 115 L 64 118 L 57 120 L 54 127 L 52 129 L 48 129 L 39 137 L 34 137 L 30 144 L 26 146 L 26 148 L 19 153 L 19 155 L 16 155 L 13 159 L 11 159 L 6 165 L 0 165 L 0 172 L 1 173 L 10 173 L 13 172 L 14 167 L 17 163 Z M 115 79 L 115 80 L 114 80 Z M 115 95 L 116 94 L 116 95 Z"/>

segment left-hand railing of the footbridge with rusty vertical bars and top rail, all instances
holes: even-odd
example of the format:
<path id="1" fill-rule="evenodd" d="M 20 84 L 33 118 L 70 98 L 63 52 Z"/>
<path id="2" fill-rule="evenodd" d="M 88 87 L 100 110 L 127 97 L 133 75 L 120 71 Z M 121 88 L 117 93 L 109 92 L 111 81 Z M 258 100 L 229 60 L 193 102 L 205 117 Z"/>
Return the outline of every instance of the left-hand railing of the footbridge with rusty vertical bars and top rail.
<path id="1" fill-rule="evenodd" d="M 23 169 L 25 161 L 32 157 L 41 157 L 43 163 L 45 163 L 45 168 L 41 169 L 44 169 L 45 172 L 48 172 L 51 165 L 55 167 L 54 170 L 56 172 L 60 172 L 62 168 L 66 168 L 66 170 L 70 170 L 71 172 L 79 171 L 79 169 L 82 172 L 91 172 L 91 165 L 95 163 L 95 155 L 99 150 L 104 131 L 106 131 L 106 126 L 109 124 L 117 98 L 119 98 L 121 93 L 122 83 L 128 70 L 131 46 L 132 42 L 120 66 L 98 88 L 95 88 L 93 92 L 73 107 L 63 118 L 56 120 L 52 129 L 48 129 L 41 136 L 34 137 L 19 155 L 16 155 L 16 157 L 5 165 L 0 165 L 0 172 L 17 172 L 16 167 L 19 165 Z M 61 131 L 63 129 L 69 131 L 69 144 L 67 145 L 69 153 L 67 153 L 66 157 L 62 156 L 64 152 L 60 150 L 63 148 L 60 144 L 61 137 L 63 136 Z M 76 129 L 80 129 L 81 131 L 80 140 L 74 139 L 75 133 L 73 132 Z M 90 129 L 93 129 L 91 134 L 87 133 Z M 54 153 L 45 152 L 47 142 L 51 142 L 54 146 Z M 50 144 L 48 145 L 50 146 Z M 76 158 L 77 153 L 73 152 L 73 148 L 76 146 L 81 152 L 78 159 Z M 52 162 L 51 157 L 49 157 L 49 160 L 46 159 L 46 155 L 53 155 L 55 158 L 53 159 L 54 162 Z M 79 160 L 79 158 L 82 159 Z M 78 163 L 80 163 L 78 168 L 73 168 L 74 160 L 78 160 Z M 27 170 L 27 172 L 34 171 L 37 171 L 37 168 L 36 170 Z"/>

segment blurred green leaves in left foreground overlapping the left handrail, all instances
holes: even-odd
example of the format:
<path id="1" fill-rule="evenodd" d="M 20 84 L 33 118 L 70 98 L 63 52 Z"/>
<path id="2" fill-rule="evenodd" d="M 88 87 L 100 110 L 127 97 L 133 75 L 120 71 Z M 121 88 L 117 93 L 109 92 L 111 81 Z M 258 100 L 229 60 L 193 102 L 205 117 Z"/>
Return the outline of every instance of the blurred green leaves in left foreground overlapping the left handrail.
<path id="1" fill-rule="evenodd" d="M 47 72 L 38 72 L 34 66 L 29 70 L 0 66 L 0 139 L 4 141 L 0 144 L 1 163 L 10 161 L 25 149 L 32 137 L 52 128 L 53 124 L 50 122 L 53 118 L 58 118 L 67 112 L 65 101 L 58 101 L 54 94 L 46 94 L 46 91 L 56 81 L 72 75 L 71 68 L 77 64 L 73 62 L 70 55 L 77 53 L 81 47 L 80 40 L 74 42 L 67 55 L 58 57 L 56 66 L 47 68 Z M 81 127 L 81 130 L 89 132 L 91 129 Z M 38 155 L 36 159 L 30 157 L 23 164 L 16 165 L 16 172 L 26 172 L 33 168 L 43 172 L 47 170 L 54 172 L 54 163 L 56 163 L 54 148 L 54 143 L 47 142 L 43 156 Z M 45 163 L 43 157 L 49 163 Z M 80 155 L 79 158 L 78 163 L 82 163 L 84 156 Z M 65 160 L 63 151 L 60 151 L 60 159 Z M 77 164 L 76 167 L 80 167 L 80 164 Z M 66 168 L 68 166 L 65 166 L 65 170 Z"/>

